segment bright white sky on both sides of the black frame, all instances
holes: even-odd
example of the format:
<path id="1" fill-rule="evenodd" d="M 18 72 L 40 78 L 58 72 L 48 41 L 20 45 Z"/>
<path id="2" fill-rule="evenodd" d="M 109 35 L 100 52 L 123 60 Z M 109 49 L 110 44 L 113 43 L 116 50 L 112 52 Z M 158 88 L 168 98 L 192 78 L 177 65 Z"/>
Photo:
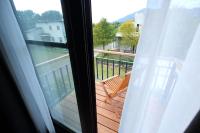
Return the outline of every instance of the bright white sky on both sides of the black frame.
<path id="1" fill-rule="evenodd" d="M 92 20 L 97 23 L 101 18 L 113 22 L 130 13 L 145 8 L 147 0 L 91 0 Z M 43 13 L 47 10 L 61 12 L 60 0 L 14 0 L 17 10 L 33 10 Z"/>

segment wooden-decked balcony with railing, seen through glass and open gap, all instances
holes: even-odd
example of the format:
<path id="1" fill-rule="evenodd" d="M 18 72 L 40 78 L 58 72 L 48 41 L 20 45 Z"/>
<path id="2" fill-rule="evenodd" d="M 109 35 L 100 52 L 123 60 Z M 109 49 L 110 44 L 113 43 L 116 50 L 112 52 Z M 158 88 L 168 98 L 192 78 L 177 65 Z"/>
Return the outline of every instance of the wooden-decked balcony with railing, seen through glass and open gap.
<path id="1" fill-rule="evenodd" d="M 30 42 L 29 42 L 30 43 Z M 51 114 L 62 123 L 70 126 L 74 131 L 81 131 L 80 120 L 78 116 L 78 107 L 74 91 L 71 64 L 67 50 L 55 47 L 55 45 L 42 46 L 36 42 L 31 42 L 29 48 L 33 56 L 40 55 L 37 49 L 44 48 L 50 52 L 52 57 L 35 60 L 35 69 L 37 71 L 42 90 L 47 99 L 48 106 L 51 108 Z M 48 50 L 46 50 L 48 49 Z M 59 52 L 57 52 L 59 51 Z M 35 53 L 36 52 L 36 53 Z M 59 54 L 58 54 L 59 53 Z M 60 54 L 62 53 L 62 54 Z M 95 50 L 95 54 L 114 54 L 122 56 L 134 56 L 128 53 L 108 52 Z M 34 58 L 33 58 L 34 59 Z M 133 62 L 120 59 L 110 59 L 106 57 L 95 57 L 95 78 L 96 78 L 96 107 L 98 131 L 100 133 L 114 133 L 118 131 L 121 112 L 124 104 L 126 92 L 120 93 L 114 97 L 111 102 L 105 103 L 106 94 L 99 84 L 103 79 L 114 75 L 123 76 L 132 69 Z M 53 69 L 52 69 L 53 68 Z M 108 90 L 109 91 L 109 90 Z"/>

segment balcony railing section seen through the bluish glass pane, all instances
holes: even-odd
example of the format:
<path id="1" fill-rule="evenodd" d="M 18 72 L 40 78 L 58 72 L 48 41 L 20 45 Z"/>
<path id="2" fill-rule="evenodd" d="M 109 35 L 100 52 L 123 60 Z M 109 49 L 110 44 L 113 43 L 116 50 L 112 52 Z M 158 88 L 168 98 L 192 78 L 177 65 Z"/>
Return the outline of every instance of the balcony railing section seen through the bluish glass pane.
<path id="1" fill-rule="evenodd" d="M 67 65 L 39 74 L 39 80 L 50 107 L 56 105 L 74 89 Z"/>

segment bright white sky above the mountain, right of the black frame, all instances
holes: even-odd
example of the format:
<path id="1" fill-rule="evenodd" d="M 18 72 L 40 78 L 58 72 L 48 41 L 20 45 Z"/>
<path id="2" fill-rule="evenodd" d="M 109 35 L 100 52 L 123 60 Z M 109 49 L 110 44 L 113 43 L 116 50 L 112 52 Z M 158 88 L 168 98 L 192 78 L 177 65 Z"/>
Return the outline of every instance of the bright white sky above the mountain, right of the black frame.
<path id="1" fill-rule="evenodd" d="M 113 22 L 146 7 L 146 0 L 91 0 L 91 2 L 94 23 L 103 17 Z"/>

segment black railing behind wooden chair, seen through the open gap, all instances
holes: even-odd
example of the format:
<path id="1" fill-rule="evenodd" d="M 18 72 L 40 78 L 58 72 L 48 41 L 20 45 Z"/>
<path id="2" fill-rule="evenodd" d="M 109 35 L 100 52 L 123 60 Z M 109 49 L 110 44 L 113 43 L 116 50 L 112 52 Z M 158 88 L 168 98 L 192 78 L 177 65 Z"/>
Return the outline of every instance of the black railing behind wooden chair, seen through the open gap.
<path id="1" fill-rule="evenodd" d="M 133 62 L 96 57 L 96 79 L 106 79 L 114 75 L 124 75 L 132 69 Z"/>

